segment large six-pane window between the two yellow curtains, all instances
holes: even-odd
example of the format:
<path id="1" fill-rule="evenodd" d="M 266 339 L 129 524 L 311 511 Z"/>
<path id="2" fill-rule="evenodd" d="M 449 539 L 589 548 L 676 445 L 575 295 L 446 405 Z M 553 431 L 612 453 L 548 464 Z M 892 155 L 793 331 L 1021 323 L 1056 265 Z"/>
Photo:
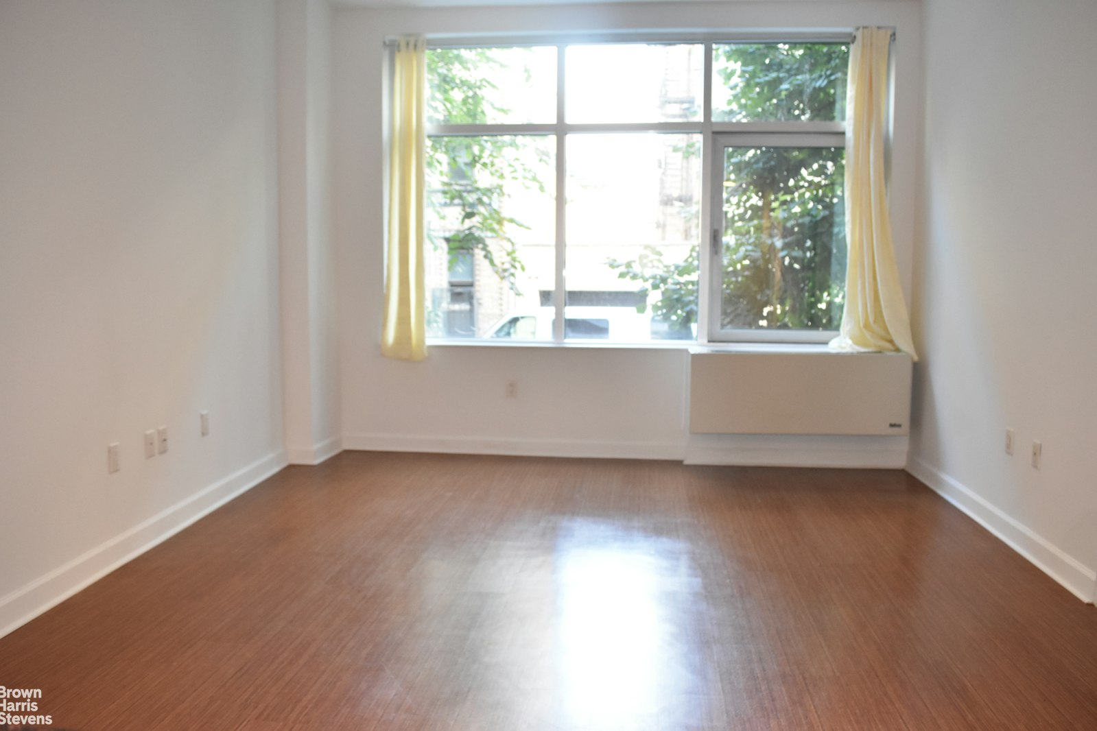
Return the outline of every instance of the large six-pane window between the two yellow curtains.
<path id="1" fill-rule="evenodd" d="M 430 48 L 428 334 L 829 338 L 847 58 L 837 42 Z"/>

